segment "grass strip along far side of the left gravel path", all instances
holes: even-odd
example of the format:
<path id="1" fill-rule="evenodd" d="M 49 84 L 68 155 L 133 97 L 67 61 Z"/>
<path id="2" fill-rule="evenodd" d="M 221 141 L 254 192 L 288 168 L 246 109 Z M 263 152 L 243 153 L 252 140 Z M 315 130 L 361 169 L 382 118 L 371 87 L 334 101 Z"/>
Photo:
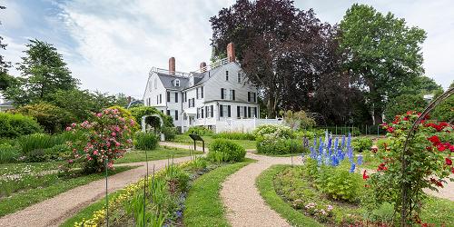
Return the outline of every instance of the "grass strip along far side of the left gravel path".
<path id="1" fill-rule="evenodd" d="M 121 173 L 132 168 L 133 167 L 130 166 L 117 167 L 114 171 L 111 171 L 109 175 Z M 0 199 L 0 217 L 5 216 L 8 213 L 22 210 L 37 202 L 52 198 L 59 193 L 66 192 L 77 186 L 103 179 L 103 177 L 104 173 L 95 173 L 72 179 L 60 179 L 47 187 L 38 187 L 23 192 L 16 192 L 11 197 Z"/>

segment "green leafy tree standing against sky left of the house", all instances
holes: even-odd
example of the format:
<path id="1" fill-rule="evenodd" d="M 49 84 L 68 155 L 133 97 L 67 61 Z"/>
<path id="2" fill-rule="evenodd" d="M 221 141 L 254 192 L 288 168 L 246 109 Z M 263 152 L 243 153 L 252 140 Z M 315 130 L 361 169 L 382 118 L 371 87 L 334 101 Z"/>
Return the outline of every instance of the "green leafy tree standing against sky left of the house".
<path id="1" fill-rule="evenodd" d="M 5 96 L 15 104 L 30 104 L 46 100 L 58 90 L 72 90 L 77 87 L 75 79 L 64 63 L 61 54 L 52 44 L 30 40 L 27 50 L 17 69 L 21 72 L 19 84 L 8 87 Z"/>

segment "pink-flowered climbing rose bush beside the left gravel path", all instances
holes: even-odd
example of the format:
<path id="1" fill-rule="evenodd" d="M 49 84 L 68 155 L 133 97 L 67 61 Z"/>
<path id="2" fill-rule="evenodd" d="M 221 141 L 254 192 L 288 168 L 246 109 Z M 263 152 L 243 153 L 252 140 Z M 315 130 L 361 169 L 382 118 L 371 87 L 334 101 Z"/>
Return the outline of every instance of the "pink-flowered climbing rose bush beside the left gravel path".
<path id="1" fill-rule="evenodd" d="M 114 161 L 132 147 L 133 125 L 135 122 L 124 119 L 117 109 L 94 114 L 93 122 L 72 123 L 66 131 L 82 133 L 83 136 L 68 144 L 73 151 L 68 163 L 81 163 L 87 173 L 103 171 L 106 164 L 107 168 L 113 168 Z"/>

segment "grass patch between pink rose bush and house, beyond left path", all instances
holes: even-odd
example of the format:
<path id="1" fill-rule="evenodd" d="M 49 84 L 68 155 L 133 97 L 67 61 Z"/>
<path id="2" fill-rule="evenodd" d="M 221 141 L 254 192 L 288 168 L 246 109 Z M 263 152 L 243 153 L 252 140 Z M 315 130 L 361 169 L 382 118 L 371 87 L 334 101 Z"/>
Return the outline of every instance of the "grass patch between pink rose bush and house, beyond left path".
<path id="1" fill-rule="evenodd" d="M 189 147 L 188 147 L 189 148 Z M 189 156 L 192 152 L 190 150 L 184 150 L 179 148 L 160 146 L 152 151 L 147 151 L 148 161 L 161 160 L 168 158 L 179 158 Z M 195 152 L 193 154 L 199 154 L 202 152 Z M 123 158 L 116 160 L 115 163 L 137 163 L 145 162 L 144 151 L 131 151 L 124 153 Z"/>

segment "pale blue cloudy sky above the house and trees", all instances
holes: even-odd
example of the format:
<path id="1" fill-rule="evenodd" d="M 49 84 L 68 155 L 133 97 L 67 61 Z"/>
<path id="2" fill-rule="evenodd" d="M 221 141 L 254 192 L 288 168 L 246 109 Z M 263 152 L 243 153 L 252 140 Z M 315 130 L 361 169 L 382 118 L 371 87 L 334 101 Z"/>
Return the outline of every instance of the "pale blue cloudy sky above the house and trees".
<path id="1" fill-rule="evenodd" d="M 0 35 L 7 61 L 20 62 L 29 39 L 54 46 L 81 81 L 81 87 L 142 98 L 153 66 L 190 72 L 212 54 L 210 17 L 234 0 L 0 0 Z M 304 0 L 322 22 L 339 23 L 354 3 L 403 17 L 427 32 L 422 44 L 426 75 L 443 88 L 454 80 L 454 2 L 450 0 Z M 12 69 L 13 75 L 19 73 Z"/>

